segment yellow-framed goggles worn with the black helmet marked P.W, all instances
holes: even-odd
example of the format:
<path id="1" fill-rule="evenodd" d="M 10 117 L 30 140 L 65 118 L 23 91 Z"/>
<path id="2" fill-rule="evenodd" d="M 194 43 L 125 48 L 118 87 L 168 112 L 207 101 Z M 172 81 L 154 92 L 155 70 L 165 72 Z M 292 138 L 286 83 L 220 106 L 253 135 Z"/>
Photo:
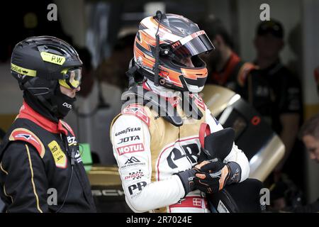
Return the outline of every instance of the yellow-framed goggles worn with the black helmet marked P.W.
<path id="1" fill-rule="evenodd" d="M 68 89 L 77 89 L 81 84 L 82 67 L 62 70 L 65 79 L 59 79 L 59 84 Z"/>

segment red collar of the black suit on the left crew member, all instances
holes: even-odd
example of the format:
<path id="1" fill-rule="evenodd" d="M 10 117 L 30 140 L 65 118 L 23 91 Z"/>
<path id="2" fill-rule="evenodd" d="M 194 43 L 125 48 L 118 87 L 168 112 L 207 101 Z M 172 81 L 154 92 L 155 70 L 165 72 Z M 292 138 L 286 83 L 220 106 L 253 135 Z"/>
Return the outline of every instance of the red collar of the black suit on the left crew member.
<path id="1" fill-rule="evenodd" d="M 63 126 L 62 121 L 58 121 L 55 123 L 54 121 L 50 121 L 48 118 L 45 118 L 37 111 L 33 110 L 26 101 L 23 101 L 23 105 L 19 111 L 17 118 L 26 118 L 33 123 L 37 124 L 41 128 L 44 128 L 46 131 L 50 133 L 63 133 L 65 135 L 68 134 L 67 129 Z"/>

